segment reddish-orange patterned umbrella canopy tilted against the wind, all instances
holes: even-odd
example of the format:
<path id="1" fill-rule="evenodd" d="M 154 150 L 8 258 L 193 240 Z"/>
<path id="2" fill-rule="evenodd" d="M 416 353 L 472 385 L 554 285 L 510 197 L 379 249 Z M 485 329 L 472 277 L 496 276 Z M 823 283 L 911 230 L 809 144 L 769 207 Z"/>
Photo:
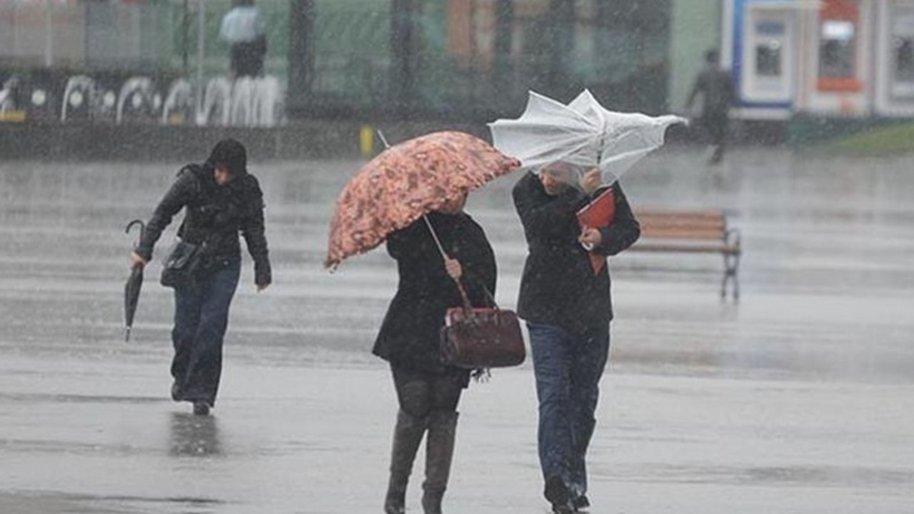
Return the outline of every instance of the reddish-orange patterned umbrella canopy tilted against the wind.
<path id="1" fill-rule="evenodd" d="M 385 150 L 336 201 L 324 266 L 375 248 L 394 230 L 520 166 L 471 134 L 437 132 Z"/>

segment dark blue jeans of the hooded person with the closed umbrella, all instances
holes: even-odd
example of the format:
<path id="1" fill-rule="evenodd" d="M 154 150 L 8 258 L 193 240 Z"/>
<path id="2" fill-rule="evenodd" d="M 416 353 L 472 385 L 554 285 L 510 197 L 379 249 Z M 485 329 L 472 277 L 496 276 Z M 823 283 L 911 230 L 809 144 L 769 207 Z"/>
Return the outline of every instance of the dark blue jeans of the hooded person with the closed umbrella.
<path id="1" fill-rule="evenodd" d="M 216 270 L 207 273 L 197 287 L 175 289 L 175 359 L 171 369 L 175 402 L 216 403 L 228 306 L 240 272 L 240 259 L 218 262 Z"/>

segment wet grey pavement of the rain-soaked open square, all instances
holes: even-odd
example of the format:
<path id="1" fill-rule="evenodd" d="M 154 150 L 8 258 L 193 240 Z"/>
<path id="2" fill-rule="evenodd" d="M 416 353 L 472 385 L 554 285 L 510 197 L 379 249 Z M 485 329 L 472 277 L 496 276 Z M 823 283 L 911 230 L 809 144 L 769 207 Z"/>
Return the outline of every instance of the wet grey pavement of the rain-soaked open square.
<path id="1" fill-rule="evenodd" d="M 395 268 L 383 250 L 320 265 L 357 166 L 251 166 L 275 284 L 256 294 L 246 261 L 218 405 L 199 418 L 168 400 L 157 265 L 122 342 L 123 227 L 149 216 L 177 166 L 0 164 L 0 512 L 380 512 L 396 402 L 369 348 Z M 507 306 L 526 252 L 515 178 L 469 205 Z M 591 511 L 914 511 L 906 159 L 747 149 L 709 169 L 673 147 L 622 183 L 635 209 L 728 209 L 742 297 L 720 301 L 719 256 L 612 260 Z M 465 393 L 447 511 L 546 512 L 533 385 L 526 363 Z"/>

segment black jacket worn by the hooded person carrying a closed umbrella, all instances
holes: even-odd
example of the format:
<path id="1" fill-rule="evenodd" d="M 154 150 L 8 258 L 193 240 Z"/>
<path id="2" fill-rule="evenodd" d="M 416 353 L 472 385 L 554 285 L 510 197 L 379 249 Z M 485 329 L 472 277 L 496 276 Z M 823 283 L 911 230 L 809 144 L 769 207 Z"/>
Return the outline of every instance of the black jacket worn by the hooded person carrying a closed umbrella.
<path id="1" fill-rule="evenodd" d="M 263 192 L 256 177 L 245 174 L 226 186 L 219 186 L 212 166 L 181 168 L 146 224 L 143 239 L 136 248 L 143 259 L 152 259 L 155 241 L 183 208 L 186 214 L 178 236 L 182 241 L 204 245 L 205 266 L 208 262 L 240 257 L 240 231 L 254 260 L 255 283 L 271 283 L 270 253 L 263 229 Z"/>

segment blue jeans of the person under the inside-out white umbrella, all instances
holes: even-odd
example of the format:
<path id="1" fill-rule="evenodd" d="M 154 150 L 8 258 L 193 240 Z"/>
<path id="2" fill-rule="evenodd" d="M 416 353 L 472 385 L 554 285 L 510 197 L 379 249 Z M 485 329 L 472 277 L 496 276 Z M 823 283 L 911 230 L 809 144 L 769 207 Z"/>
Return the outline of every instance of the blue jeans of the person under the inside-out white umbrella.
<path id="1" fill-rule="evenodd" d="M 600 377 L 610 353 L 610 327 L 572 333 L 527 323 L 539 399 L 537 444 L 543 478 L 561 477 L 572 497 L 587 492 L 585 458 L 597 421 Z"/>

